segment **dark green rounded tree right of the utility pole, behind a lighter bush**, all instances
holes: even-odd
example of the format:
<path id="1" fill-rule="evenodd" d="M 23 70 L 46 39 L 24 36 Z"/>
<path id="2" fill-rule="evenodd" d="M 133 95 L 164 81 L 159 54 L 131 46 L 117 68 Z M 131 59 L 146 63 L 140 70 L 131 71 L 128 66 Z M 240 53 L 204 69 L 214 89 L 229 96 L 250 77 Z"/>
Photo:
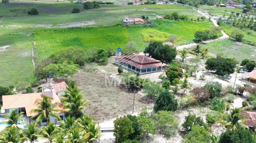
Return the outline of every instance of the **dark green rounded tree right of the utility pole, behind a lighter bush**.
<path id="1" fill-rule="evenodd" d="M 178 109 L 178 100 L 175 95 L 165 90 L 159 93 L 155 100 L 154 111 L 176 111 Z"/>

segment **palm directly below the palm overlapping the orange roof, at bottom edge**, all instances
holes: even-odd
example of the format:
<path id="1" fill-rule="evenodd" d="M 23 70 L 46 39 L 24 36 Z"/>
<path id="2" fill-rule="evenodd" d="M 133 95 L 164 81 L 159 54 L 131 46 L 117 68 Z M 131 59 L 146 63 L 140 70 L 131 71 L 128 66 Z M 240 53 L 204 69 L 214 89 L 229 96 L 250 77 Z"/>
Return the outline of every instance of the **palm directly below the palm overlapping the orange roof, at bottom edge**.
<path id="1" fill-rule="evenodd" d="M 42 126 L 41 134 L 44 138 L 47 138 L 47 143 L 51 143 L 54 137 L 59 133 L 59 128 L 54 123 L 49 122 L 47 126 Z"/>

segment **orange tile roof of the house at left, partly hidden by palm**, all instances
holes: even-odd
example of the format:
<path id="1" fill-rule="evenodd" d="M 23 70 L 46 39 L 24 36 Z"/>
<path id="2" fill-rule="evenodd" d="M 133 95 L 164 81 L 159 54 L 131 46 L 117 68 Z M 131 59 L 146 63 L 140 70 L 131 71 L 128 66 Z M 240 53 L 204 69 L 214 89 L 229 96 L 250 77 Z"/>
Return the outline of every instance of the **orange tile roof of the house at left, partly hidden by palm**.
<path id="1" fill-rule="evenodd" d="M 32 109 L 36 109 L 35 101 L 41 99 L 43 96 L 42 93 L 29 93 L 29 94 L 15 94 L 15 95 L 4 95 L 3 99 L 3 108 L 4 109 L 13 109 L 13 108 L 25 108 L 26 114 L 28 117 L 33 116 L 34 113 L 30 113 Z M 55 92 L 53 92 L 52 103 L 58 103 L 59 109 L 64 109 L 63 105 Z M 65 113 L 60 111 L 59 113 Z"/>

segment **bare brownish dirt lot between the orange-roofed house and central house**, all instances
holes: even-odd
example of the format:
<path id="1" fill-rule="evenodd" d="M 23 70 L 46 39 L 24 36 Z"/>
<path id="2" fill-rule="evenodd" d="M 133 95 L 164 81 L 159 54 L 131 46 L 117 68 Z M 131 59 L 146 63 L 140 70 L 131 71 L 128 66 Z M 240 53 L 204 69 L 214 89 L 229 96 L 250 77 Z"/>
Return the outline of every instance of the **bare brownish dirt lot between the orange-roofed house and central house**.
<path id="1" fill-rule="evenodd" d="M 109 120 L 132 113 L 133 89 L 105 85 L 104 75 L 93 66 L 87 65 L 79 70 L 69 80 L 76 81 L 80 89 L 84 89 L 84 98 L 89 100 L 86 113 L 95 117 L 95 120 Z M 131 92 L 132 90 L 132 92 Z M 141 95 L 135 94 L 134 112 L 139 111 L 147 104 L 140 102 Z"/>

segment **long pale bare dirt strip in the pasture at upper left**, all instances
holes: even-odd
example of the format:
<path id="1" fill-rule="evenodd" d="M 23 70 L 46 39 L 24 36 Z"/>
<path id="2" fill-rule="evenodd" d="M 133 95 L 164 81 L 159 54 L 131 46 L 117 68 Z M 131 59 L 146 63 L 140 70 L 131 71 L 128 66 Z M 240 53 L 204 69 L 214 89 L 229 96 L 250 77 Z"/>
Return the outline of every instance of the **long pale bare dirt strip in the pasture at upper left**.
<path id="1" fill-rule="evenodd" d="M 35 27 L 46 27 L 46 28 L 67 28 L 67 27 L 77 27 L 77 26 L 85 26 L 85 25 L 94 25 L 96 24 L 94 20 L 92 21 L 82 21 L 82 22 L 72 22 L 72 23 L 64 23 L 64 24 L 39 24 Z"/>

